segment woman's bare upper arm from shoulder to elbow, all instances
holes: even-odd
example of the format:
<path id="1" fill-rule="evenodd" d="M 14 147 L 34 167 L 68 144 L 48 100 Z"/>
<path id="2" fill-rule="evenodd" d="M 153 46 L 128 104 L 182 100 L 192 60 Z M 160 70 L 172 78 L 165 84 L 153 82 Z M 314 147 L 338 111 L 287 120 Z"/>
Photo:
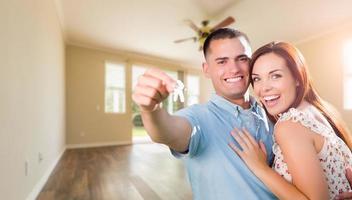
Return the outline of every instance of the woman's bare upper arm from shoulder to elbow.
<path id="1" fill-rule="evenodd" d="M 328 184 L 310 129 L 292 121 L 280 122 L 274 134 L 283 153 L 293 184 L 309 199 L 329 199 Z"/>

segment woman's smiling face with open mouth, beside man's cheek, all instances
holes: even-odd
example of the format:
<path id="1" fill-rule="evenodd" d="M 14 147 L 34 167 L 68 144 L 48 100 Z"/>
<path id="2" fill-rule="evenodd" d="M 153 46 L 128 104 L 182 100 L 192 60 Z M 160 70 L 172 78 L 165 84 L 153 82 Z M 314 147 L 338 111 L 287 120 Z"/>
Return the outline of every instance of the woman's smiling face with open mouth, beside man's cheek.
<path id="1" fill-rule="evenodd" d="M 270 115 L 285 112 L 296 98 L 298 82 L 286 61 L 274 54 L 260 56 L 253 66 L 253 89 Z"/>

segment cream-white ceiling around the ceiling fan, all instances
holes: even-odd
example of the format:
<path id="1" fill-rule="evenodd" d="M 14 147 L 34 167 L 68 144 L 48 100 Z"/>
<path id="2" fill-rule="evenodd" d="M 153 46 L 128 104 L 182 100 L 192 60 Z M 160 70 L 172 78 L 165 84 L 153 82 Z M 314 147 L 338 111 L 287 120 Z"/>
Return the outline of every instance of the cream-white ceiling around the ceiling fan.
<path id="1" fill-rule="evenodd" d="M 55 0 L 68 43 L 157 56 L 199 67 L 202 54 L 185 24 L 210 19 L 246 32 L 254 48 L 294 43 L 352 22 L 351 0 Z"/>

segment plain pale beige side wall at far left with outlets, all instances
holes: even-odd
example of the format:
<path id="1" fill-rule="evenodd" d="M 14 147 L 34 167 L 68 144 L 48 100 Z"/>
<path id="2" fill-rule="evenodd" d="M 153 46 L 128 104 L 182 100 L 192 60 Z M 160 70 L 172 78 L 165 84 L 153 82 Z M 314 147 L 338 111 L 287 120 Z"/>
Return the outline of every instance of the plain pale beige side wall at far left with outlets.
<path id="1" fill-rule="evenodd" d="M 65 148 L 64 40 L 52 0 L 1 1 L 0 20 L 0 199 L 23 200 Z"/>

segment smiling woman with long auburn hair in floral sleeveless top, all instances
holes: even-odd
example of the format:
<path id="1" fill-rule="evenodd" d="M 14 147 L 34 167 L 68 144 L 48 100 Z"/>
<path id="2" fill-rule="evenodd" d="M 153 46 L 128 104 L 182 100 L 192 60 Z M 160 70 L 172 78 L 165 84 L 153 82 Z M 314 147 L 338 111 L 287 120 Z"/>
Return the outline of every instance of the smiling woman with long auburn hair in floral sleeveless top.
<path id="1" fill-rule="evenodd" d="M 250 72 L 254 93 L 276 123 L 273 166 L 246 130 L 231 133 L 241 149 L 230 147 L 279 199 L 334 199 L 351 190 L 345 177 L 351 137 L 313 88 L 300 52 L 269 43 L 254 52 Z"/>

